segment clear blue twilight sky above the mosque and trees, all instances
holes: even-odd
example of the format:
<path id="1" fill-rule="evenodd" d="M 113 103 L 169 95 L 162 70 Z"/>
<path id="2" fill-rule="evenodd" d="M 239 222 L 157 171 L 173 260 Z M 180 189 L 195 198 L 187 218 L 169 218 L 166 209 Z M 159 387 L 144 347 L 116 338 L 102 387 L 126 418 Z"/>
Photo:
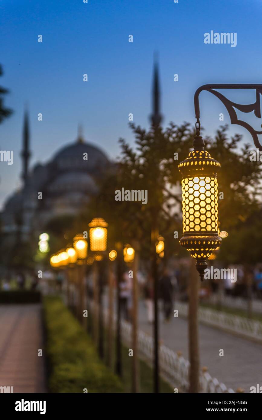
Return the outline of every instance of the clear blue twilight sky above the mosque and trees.
<path id="1" fill-rule="evenodd" d="M 262 0 L 1 0 L 0 85 L 10 89 L 5 105 L 14 113 L 0 125 L 0 150 L 13 150 L 14 163 L 0 163 L 0 205 L 20 185 L 25 103 L 31 165 L 74 141 L 78 123 L 87 141 L 116 157 L 120 136 L 134 141 L 129 113 L 135 123 L 149 125 L 155 50 L 164 125 L 195 123 L 193 96 L 200 85 L 262 83 L 261 16 Z M 204 33 L 212 30 L 236 32 L 236 47 L 204 44 Z M 255 100 L 254 91 L 226 93 L 242 103 Z M 206 134 L 221 124 L 219 113 L 229 122 L 210 93 L 201 94 L 200 105 Z M 257 118 L 249 121 L 260 128 Z M 241 127 L 233 126 L 235 132 L 251 141 Z"/>

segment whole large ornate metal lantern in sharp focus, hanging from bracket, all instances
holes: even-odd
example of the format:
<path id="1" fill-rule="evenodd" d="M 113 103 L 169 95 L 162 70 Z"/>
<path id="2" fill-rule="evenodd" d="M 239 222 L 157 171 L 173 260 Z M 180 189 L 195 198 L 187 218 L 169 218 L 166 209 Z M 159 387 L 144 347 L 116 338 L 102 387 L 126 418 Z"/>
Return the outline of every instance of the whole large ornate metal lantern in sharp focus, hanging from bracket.
<path id="1" fill-rule="evenodd" d="M 220 163 L 204 150 L 204 140 L 196 127 L 194 150 L 179 163 L 182 174 L 183 237 L 182 247 L 196 259 L 201 281 L 207 268 L 207 259 L 220 247 L 218 231 L 217 170 Z"/>

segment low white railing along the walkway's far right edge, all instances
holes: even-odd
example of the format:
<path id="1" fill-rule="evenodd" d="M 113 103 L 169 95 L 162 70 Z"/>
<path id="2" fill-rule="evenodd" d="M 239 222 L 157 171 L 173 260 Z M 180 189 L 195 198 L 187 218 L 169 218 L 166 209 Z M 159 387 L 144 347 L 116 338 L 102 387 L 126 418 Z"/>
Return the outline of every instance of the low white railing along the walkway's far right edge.
<path id="1" fill-rule="evenodd" d="M 185 318 L 187 317 L 187 303 L 176 302 L 176 309 L 178 310 L 178 316 L 182 315 Z M 262 341 L 261 321 L 203 307 L 199 307 L 198 316 L 199 321 L 204 324 L 211 325 L 212 327 L 218 327 L 229 332 L 239 333 L 247 338 Z"/>

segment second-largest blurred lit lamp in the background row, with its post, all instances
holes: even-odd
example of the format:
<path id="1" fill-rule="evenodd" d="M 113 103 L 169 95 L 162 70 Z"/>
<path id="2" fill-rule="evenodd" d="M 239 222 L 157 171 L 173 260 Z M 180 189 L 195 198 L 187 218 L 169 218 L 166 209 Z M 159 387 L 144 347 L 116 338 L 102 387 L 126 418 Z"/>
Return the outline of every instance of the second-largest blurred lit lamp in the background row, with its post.
<path id="1" fill-rule="evenodd" d="M 76 251 L 76 264 L 77 264 L 77 283 L 78 283 L 78 317 L 81 323 L 84 322 L 83 310 L 84 310 L 84 274 L 85 274 L 85 260 L 87 257 L 87 241 L 84 235 L 77 234 L 73 238 L 73 248 Z"/>

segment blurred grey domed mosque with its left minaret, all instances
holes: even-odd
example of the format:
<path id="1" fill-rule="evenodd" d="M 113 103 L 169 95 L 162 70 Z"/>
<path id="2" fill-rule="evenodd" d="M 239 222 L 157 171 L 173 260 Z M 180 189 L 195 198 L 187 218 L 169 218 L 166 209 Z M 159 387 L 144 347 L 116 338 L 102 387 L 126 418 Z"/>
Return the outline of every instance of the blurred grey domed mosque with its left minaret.
<path id="1" fill-rule="evenodd" d="M 98 181 L 113 167 L 106 154 L 84 141 L 79 132 L 75 142 L 58 150 L 46 164 L 29 170 L 29 120 L 24 116 L 22 179 L 23 186 L 8 197 L 0 215 L 1 231 L 8 242 L 38 235 L 46 224 L 63 215 L 75 216 L 91 197 L 99 193 Z M 42 192 L 42 199 L 38 199 Z"/>

